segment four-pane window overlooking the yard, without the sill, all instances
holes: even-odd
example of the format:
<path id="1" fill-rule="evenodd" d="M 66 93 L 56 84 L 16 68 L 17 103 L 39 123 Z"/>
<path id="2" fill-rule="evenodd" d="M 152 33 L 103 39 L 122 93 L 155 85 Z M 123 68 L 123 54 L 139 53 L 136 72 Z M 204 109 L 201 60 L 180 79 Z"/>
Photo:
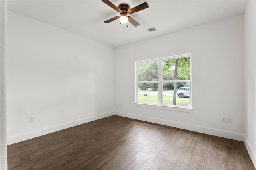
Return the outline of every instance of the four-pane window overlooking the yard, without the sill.
<path id="1" fill-rule="evenodd" d="M 191 54 L 136 61 L 137 104 L 191 108 Z"/>

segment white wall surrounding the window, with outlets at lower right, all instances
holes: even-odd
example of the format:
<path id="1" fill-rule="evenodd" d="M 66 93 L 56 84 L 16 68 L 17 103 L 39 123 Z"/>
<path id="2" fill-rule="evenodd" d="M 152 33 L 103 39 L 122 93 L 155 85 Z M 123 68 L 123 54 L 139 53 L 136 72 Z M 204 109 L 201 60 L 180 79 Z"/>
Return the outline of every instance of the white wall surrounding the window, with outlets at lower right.
<path id="1" fill-rule="evenodd" d="M 192 53 L 193 113 L 134 106 L 134 62 L 185 53 Z M 117 115 L 242 141 L 243 81 L 243 15 L 115 49 Z M 232 123 L 221 122 L 222 116 Z"/>

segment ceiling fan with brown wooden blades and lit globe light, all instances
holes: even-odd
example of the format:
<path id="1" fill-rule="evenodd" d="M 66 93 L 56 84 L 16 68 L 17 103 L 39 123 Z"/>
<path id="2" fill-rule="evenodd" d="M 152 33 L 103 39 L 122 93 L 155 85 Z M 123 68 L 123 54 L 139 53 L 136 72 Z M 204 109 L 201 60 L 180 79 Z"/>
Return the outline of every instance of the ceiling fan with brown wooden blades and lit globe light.
<path id="1" fill-rule="evenodd" d="M 110 18 L 109 20 L 104 21 L 104 23 L 110 23 L 114 20 L 117 20 L 118 18 L 120 19 L 120 24 L 121 23 L 127 23 L 128 21 L 134 25 L 134 27 L 139 26 L 140 24 L 135 21 L 132 17 L 127 16 L 127 14 L 132 14 L 134 12 L 138 12 L 140 10 L 144 10 L 145 8 L 148 8 L 147 2 L 144 2 L 138 6 L 135 6 L 134 8 L 130 9 L 130 6 L 128 4 L 120 4 L 118 7 L 112 4 L 109 0 L 102 0 L 105 4 L 116 10 L 117 12 L 120 13 L 120 16 L 115 16 L 113 18 Z"/>

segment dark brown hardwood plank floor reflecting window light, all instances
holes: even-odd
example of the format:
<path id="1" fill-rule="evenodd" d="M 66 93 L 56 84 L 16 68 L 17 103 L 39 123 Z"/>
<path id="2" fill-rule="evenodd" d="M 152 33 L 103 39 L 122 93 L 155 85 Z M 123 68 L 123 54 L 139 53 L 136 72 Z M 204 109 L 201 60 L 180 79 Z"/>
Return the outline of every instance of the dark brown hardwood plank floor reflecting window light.
<path id="1" fill-rule="evenodd" d="M 243 142 L 119 116 L 8 145 L 8 169 L 255 170 Z"/>

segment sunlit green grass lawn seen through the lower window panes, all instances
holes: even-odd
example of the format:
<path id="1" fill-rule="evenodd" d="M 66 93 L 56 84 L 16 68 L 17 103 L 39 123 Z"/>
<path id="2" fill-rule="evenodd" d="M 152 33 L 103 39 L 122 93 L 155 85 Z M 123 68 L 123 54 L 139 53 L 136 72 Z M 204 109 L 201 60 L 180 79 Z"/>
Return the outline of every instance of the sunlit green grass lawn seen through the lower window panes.
<path id="1" fill-rule="evenodd" d="M 172 104 L 173 96 L 163 96 L 163 104 Z M 158 104 L 158 96 L 157 95 L 148 95 L 144 96 L 143 94 L 139 94 L 139 102 L 147 102 Z M 188 106 L 189 98 L 176 98 L 176 105 L 180 106 Z"/>

